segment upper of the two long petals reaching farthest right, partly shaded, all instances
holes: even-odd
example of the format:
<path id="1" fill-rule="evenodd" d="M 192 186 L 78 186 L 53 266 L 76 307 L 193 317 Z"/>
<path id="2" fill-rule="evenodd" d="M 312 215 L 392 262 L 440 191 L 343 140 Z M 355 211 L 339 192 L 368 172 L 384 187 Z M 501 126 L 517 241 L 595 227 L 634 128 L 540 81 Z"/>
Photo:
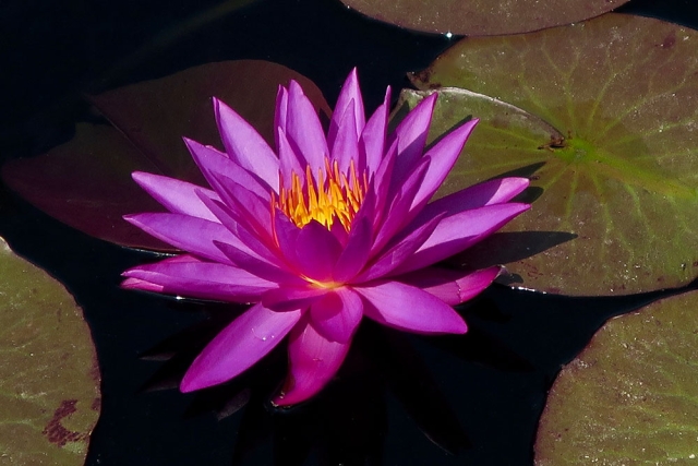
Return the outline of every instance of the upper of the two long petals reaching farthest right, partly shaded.
<path id="1" fill-rule="evenodd" d="M 464 211 L 502 204 L 514 199 L 528 188 L 528 178 L 497 178 L 484 181 L 430 202 L 414 222 L 426 222 L 442 213 L 449 217 Z"/>

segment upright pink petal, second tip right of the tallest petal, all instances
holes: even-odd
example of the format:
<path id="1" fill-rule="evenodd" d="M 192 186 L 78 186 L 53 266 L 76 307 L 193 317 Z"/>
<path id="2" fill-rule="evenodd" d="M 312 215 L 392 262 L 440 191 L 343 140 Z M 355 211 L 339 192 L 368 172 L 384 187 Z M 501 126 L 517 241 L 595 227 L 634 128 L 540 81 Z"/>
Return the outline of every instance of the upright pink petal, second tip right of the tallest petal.
<path id="1" fill-rule="evenodd" d="M 420 101 L 390 134 L 388 144 L 398 141 L 395 180 L 404 179 L 422 157 L 437 96 L 434 93 Z"/>

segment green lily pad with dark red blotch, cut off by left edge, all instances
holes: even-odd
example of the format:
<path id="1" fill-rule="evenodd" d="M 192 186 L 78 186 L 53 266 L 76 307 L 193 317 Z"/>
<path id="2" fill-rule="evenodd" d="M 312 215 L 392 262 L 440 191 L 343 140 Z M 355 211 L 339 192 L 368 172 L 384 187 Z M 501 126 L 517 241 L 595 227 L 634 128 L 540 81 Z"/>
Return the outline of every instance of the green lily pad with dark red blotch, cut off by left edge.
<path id="1" fill-rule="evenodd" d="M 100 408 L 82 310 L 0 239 L 0 463 L 82 465 Z"/>

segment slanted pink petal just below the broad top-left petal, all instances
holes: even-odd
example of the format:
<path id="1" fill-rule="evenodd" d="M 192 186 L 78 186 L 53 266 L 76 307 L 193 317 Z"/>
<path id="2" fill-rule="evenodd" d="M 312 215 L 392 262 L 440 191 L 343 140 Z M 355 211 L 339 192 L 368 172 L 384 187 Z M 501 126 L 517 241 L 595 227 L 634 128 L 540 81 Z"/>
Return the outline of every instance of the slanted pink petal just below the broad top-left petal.
<path id="1" fill-rule="evenodd" d="M 230 179 L 237 180 L 240 184 L 263 199 L 268 200 L 273 190 L 278 191 L 278 179 L 275 184 L 268 186 L 260 177 L 242 168 L 238 163 L 228 158 L 225 153 L 215 147 L 202 145 L 186 138 L 184 138 L 184 144 L 206 178 L 206 181 L 208 181 L 208 184 L 212 187 L 216 183 L 215 179 L 213 179 L 214 175 L 225 175 Z"/>

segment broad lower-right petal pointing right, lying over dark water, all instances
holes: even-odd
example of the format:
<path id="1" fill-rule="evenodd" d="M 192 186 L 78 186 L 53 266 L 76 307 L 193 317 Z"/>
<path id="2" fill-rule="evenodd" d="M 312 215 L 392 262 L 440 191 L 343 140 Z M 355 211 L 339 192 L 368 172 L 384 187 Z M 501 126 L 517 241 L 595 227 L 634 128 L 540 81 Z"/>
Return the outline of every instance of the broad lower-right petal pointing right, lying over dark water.
<path id="1" fill-rule="evenodd" d="M 382 324 L 424 334 L 462 334 L 468 330 L 450 306 L 413 286 L 384 282 L 353 289 L 364 298 L 363 313 Z"/>

